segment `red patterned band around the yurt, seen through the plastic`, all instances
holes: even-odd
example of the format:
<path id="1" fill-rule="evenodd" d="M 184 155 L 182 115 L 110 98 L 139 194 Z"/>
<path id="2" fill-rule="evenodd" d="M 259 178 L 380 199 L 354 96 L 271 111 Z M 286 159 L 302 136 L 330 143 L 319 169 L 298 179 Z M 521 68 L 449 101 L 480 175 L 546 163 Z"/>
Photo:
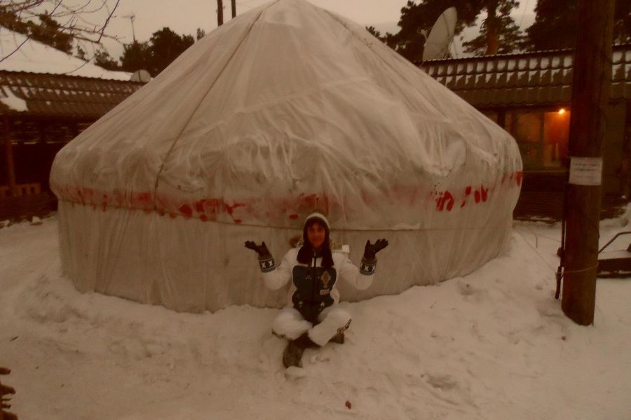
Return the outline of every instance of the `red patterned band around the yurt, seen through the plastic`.
<path id="1" fill-rule="evenodd" d="M 515 179 L 515 183 L 513 183 Z M 413 180 L 410 180 L 413 181 Z M 501 184 L 501 183 L 502 184 Z M 505 183 L 506 182 L 506 183 Z M 521 186 L 523 172 L 515 171 L 498 176 L 490 186 L 478 184 L 472 186 L 454 186 L 450 191 L 437 191 L 436 186 L 424 185 L 393 185 L 391 188 L 379 190 L 363 190 L 357 193 L 364 204 L 372 202 L 391 202 L 402 206 L 436 206 L 437 211 L 453 211 L 456 203 L 459 208 L 480 202 L 487 202 L 489 195 L 495 193 L 498 188 L 515 188 Z M 501 187 L 500 187 L 501 186 Z M 337 214 L 344 207 L 344 197 L 337 200 L 335 197 L 327 197 L 324 194 L 306 194 L 299 196 L 276 197 L 273 199 L 263 197 L 250 197 L 238 203 L 226 203 L 222 197 L 205 198 L 196 201 L 182 200 L 172 195 L 154 195 L 149 190 L 131 192 L 125 190 L 94 190 L 92 188 L 74 186 L 55 186 L 60 198 L 104 211 L 107 207 L 129 208 L 144 211 L 149 214 L 153 211 L 164 216 L 169 214 L 196 217 L 202 221 L 232 221 L 233 223 L 250 223 L 262 219 L 271 223 L 280 221 L 296 221 L 299 215 L 319 210 L 325 213 Z M 498 190 L 499 192 L 499 190 Z M 469 200 L 472 200 L 471 202 Z M 473 202 L 475 200 L 475 203 Z M 241 207 L 239 209 L 239 207 Z"/>

